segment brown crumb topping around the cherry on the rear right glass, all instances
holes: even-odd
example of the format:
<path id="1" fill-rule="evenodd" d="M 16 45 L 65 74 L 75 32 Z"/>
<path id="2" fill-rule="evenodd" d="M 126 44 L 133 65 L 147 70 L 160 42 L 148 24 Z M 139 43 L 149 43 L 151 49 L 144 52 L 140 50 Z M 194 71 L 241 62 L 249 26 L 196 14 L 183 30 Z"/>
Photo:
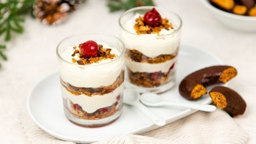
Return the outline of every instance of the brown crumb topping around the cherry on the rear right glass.
<path id="1" fill-rule="evenodd" d="M 134 29 L 136 30 L 136 33 L 138 35 L 140 34 L 157 34 L 159 35 L 159 32 L 162 29 L 170 30 L 173 29 L 172 23 L 169 22 L 168 19 L 162 18 L 160 25 L 158 27 L 151 27 L 146 25 L 146 23 L 143 21 L 143 17 L 139 17 L 136 20 L 136 23 L 134 25 Z"/>

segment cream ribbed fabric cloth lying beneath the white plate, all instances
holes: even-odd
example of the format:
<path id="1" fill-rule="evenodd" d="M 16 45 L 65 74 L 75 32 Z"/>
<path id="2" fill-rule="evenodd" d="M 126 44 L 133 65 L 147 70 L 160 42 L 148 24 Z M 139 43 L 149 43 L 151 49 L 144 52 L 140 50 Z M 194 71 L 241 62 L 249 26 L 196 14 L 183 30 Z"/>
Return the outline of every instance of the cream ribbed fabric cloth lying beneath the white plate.
<path id="1" fill-rule="evenodd" d="M 61 141 L 45 133 L 31 121 L 27 114 L 20 115 L 20 121 L 28 140 L 42 144 L 73 143 Z M 142 136 L 143 135 L 143 136 Z M 163 143 L 163 144 L 244 144 L 247 133 L 225 111 L 217 109 L 212 113 L 198 111 L 186 118 L 141 135 L 121 135 L 94 144 L 115 143 Z"/>

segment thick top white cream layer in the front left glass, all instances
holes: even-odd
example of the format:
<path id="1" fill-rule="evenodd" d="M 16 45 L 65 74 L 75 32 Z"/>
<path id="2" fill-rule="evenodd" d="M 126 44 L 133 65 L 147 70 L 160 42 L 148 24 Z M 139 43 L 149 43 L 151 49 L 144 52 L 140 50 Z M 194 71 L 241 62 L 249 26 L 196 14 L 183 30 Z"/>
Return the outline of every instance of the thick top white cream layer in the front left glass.
<path id="1" fill-rule="evenodd" d="M 106 44 L 102 44 L 103 47 L 107 49 L 112 49 L 111 53 L 120 55 L 116 48 L 109 47 Z M 74 49 L 73 46 L 68 46 L 68 48 L 61 53 L 61 57 L 71 63 L 72 58 L 78 60 L 76 57 L 72 57 Z M 114 59 L 113 59 L 114 60 Z M 124 68 L 124 59 L 118 59 L 114 62 L 111 59 L 102 60 L 98 63 L 92 63 L 91 65 L 73 65 L 71 63 L 63 62 L 59 60 L 59 71 L 60 77 L 64 82 L 68 82 L 76 87 L 93 87 L 97 88 L 100 86 L 108 86 L 116 81 L 116 78 L 120 75 L 121 70 Z M 105 63 L 104 65 L 101 65 Z"/>

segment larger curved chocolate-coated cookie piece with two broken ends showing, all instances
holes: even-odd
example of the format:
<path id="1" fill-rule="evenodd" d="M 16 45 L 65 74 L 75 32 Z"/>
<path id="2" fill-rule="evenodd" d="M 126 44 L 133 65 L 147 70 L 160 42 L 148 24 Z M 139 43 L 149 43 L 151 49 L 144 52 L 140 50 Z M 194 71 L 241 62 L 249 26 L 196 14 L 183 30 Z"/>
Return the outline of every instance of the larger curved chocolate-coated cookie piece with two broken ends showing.
<path id="1" fill-rule="evenodd" d="M 188 100 L 195 100 L 207 93 L 205 87 L 226 83 L 237 75 L 237 70 L 231 66 L 212 66 L 189 74 L 180 85 L 179 92 Z"/>

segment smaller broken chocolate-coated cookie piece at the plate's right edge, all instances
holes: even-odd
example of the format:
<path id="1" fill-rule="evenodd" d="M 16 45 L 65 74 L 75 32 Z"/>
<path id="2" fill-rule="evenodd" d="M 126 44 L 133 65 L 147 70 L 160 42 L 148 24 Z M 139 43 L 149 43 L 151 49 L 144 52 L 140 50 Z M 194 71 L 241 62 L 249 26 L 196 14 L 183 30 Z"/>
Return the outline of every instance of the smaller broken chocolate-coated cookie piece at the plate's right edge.
<path id="1" fill-rule="evenodd" d="M 244 99 L 234 90 L 224 86 L 214 87 L 209 92 L 214 105 L 227 111 L 230 116 L 243 115 L 246 109 Z"/>

